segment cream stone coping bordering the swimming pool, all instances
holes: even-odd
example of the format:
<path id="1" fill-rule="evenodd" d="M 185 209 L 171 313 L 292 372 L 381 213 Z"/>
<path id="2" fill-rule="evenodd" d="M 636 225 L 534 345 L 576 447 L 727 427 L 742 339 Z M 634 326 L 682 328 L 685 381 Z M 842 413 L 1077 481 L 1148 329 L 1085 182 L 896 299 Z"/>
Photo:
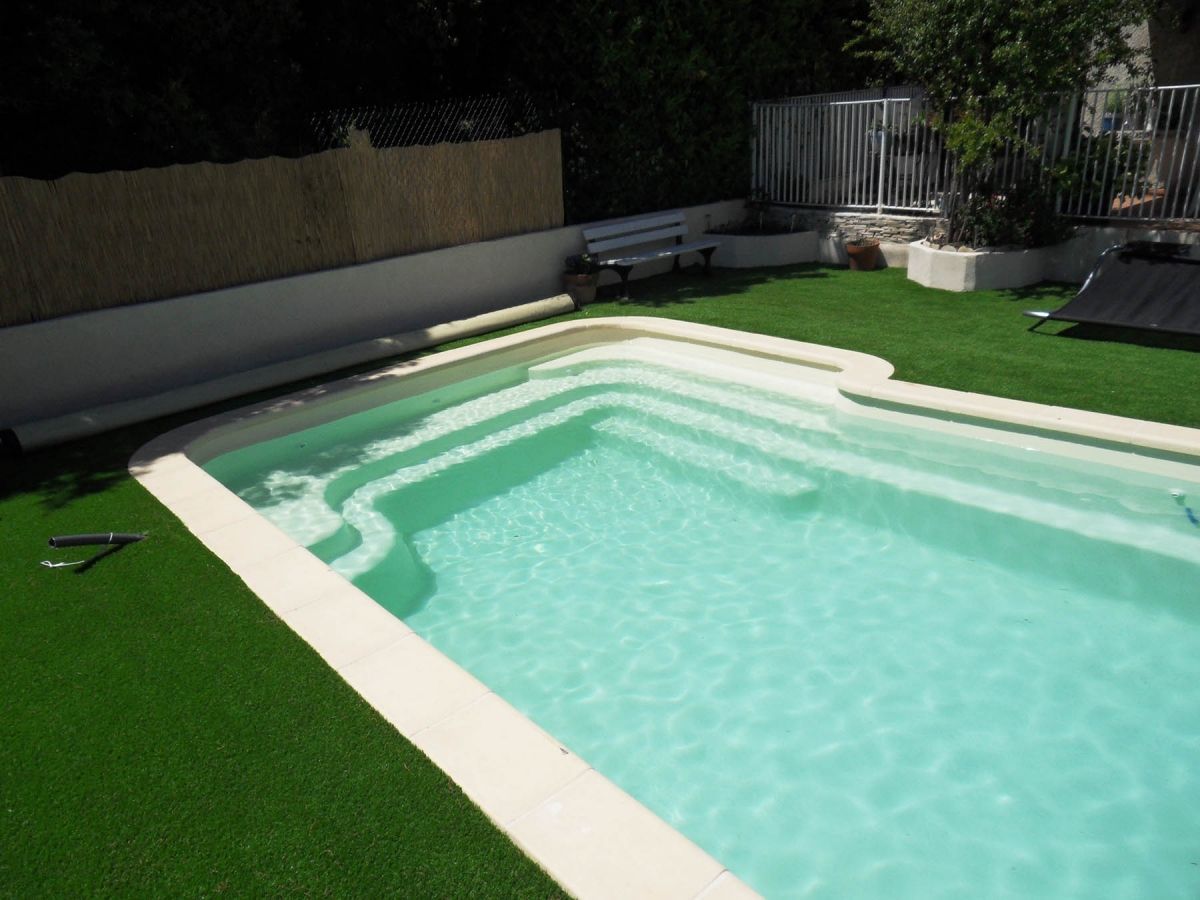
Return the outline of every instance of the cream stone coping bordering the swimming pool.
<path id="1" fill-rule="evenodd" d="M 431 379 L 449 383 L 464 368 L 479 372 L 571 347 L 646 336 L 822 370 L 851 406 L 865 400 L 929 409 L 1200 462 L 1200 430 L 892 382 L 888 362 L 860 353 L 670 319 L 622 317 L 546 325 L 193 422 L 143 446 L 130 472 L 571 894 L 755 896 L 721 863 L 334 574 L 198 464 L 233 446 L 306 427 L 314 413 L 322 420 L 344 414 L 350 403 L 361 408 L 380 389 L 392 398 L 406 384 L 415 385 L 413 391 L 428 390 Z M 895 414 L 886 408 L 863 412 Z M 1038 438 L 1020 437 L 1032 439 Z M 1081 448 L 1081 455 L 1092 450 Z M 1128 456 L 1136 457 L 1130 464 L 1139 468 L 1156 464 L 1142 455 Z"/>

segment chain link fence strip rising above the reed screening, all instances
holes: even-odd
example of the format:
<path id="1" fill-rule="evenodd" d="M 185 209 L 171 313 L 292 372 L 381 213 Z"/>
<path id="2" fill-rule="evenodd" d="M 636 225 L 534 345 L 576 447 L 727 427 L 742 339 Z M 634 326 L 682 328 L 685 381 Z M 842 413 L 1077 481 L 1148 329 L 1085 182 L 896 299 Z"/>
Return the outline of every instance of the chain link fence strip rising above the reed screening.
<path id="1" fill-rule="evenodd" d="M 317 150 L 349 146 L 354 132 L 385 148 L 500 140 L 553 127 L 528 95 L 330 109 L 316 113 L 310 126 Z"/>

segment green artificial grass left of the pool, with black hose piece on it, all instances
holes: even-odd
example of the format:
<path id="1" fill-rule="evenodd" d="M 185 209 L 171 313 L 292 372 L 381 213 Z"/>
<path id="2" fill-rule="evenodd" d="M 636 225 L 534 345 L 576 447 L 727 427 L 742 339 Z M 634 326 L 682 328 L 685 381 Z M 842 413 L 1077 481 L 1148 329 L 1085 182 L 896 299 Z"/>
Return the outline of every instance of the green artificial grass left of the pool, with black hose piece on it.
<path id="1" fill-rule="evenodd" d="M 560 895 L 124 473 L 151 431 L 4 472 L 0 895 Z"/>

